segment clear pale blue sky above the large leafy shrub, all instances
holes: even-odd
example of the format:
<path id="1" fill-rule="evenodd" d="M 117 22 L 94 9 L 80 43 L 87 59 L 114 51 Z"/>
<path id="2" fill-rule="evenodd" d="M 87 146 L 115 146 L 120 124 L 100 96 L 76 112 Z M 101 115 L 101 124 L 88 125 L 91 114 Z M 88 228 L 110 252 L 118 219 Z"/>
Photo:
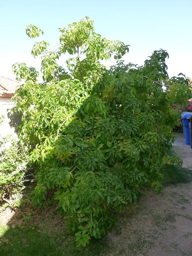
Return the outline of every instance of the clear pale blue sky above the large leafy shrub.
<path id="1" fill-rule="evenodd" d="M 38 67 L 30 55 L 33 44 L 45 40 L 54 46 L 59 42 L 58 28 L 89 16 L 97 33 L 131 45 L 124 58 L 127 62 L 142 65 L 154 50 L 163 48 L 170 56 L 169 75 L 182 72 L 192 77 L 191 0 L 7 0 L 1 1 L 0 6 L 2 76 L 14 78 L 11 66 L 16 61 Z M 28 24 L 43 29 L 44 36 L 28 38 Z"/>

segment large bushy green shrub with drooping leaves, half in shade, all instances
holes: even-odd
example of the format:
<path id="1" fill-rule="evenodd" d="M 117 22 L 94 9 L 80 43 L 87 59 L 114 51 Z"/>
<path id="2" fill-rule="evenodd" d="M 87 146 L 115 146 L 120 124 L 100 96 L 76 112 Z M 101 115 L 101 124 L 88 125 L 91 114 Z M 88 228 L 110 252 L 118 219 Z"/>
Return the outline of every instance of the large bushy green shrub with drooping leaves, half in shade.
<path id="1" fill-rule="evenodd" d="M 27 27 L 30 37 L 40 32 Z M 171 106 L 191 92 L 182 75 L 168 77 L 162 49 L 144 66 L 124 64 L 128 45 L 102 38 L 88 17 L 60 32 L 56 50 L 44 41 L 33 47 L 43 82 L 35 68 L 13 66 L 23 80 L 15 111 L 23 114 L 19 136 L 37 170 L 32 201 L 42 205 L 53 189 L 79 247 L 115 227 L 116 212 L 137 199 L 143 184 L 161 190 L 163 165 L 179 163 L 167 155 L 180 118 Z M 58 65 L 65 53 L 72 55 L 67 70 Z M 107 70 L 100 60 L 112 56 L 117 64 Z"/>

